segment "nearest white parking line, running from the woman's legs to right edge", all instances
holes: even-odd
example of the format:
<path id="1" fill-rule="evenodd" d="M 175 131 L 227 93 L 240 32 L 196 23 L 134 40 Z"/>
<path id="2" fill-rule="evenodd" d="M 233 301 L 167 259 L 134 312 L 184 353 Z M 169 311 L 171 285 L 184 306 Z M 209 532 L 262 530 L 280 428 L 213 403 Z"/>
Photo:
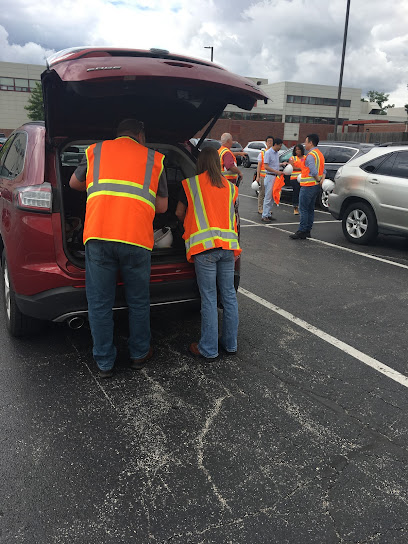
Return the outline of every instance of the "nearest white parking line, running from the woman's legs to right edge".
<path id="1" fill-rule="evenodd" d="M 250 291 L 247 291 L 246 289 L 243 289 L 242 287 L 239 287 L 238 292 L 241 293 L 241 295 L 244 295 L 250 298 L 254 302 L 261 304 L 265 308 L 268 308 L 268 310 L 272 310 L 273 312 L 279 314 L 280 316 L 289 320 L 291 323 L 294 323 L 295 325 L 302 327 L 302 329 L 307 330 L 308 332 L 314 334 L 321 340 L 324 340 L 325 342 L 328 342 L 330 345 L 340 349 L 344 353 L 351 355 L 351 357 L 354 357 L 361 363 L 364 363 L 365 365 L 373 368 L 377 372 L 384 374 L 384 376 L 387 376 L 387 378 L 394 380 L 395 382 L 403 385 L 404 387 L 408 387 L 408 377 L 404 376 L 404 374 L 397 372 L 396 370 L 390 368 L 389 366 L 384 365 L 380 361 L 377 361 L 377 359 L 374 359 L 373 357 L 366 355 L 362 351 L 359 351 L 358 349 L 353 348 L 349 344 L 346 344 L 345 342 L 342 342 L 338 338 L 335 338 L 334 336 L 331 336 L 330 334 L 325 333 L 324 331 L 318 329 L 317 327 L 314 327 L 313 325 L 310 325 L 306 321 L 303 321 L 303 319 L 300 319 L 299 317 L 294 316 L 293 314 L 287 312 L 286 310 L 282 310 L 282 308 L 275 306 L 275 304 L 272 304 L 271 302 L 268 302 L 267 300 L 261 297 L 258 297 L 258 295 L 255 295 L 254 293 L 251 293 Z"/>

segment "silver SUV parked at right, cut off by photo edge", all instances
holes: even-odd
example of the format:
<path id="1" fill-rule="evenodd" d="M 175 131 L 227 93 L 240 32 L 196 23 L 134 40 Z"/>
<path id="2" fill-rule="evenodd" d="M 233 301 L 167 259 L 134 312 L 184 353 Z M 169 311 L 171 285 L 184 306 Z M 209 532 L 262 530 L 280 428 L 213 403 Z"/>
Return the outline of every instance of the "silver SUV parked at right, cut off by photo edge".
<path id="1" fill-rule="evenodd" d="M 408 148 L 378 146 L 339 168 L 329 211 L 349 242 L 408 236 Z"/>

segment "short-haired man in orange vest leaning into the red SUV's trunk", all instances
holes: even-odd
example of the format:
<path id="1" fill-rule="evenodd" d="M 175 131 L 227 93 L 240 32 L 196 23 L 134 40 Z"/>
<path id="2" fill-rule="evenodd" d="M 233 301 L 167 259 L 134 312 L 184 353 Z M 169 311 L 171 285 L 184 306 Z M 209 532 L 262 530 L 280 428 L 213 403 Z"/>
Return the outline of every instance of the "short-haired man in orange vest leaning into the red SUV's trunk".
<path id="1" fill-rule="evenodd" d="M 153 355 L 150 260 L 153 219 L 168 205 L 163 160 L 145 147 L 143 123 L 125 119 L 116 139 L 88 147 L 69 182 L 72 189 L 87 191 L 85 285 L 93 357 L 101 378 L 113 375 L 116 359 L 112 308 L 119 271 L 129 307 L 130 367 L 142 368 Z"/>

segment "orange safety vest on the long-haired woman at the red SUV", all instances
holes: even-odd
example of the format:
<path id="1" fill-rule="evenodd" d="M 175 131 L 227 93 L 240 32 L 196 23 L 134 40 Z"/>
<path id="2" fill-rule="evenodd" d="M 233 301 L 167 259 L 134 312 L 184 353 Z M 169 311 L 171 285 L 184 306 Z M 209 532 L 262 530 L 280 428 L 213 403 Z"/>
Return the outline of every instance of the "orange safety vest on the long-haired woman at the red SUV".
<path id="1" fill-rule="evenodd" d="M 215 187 L 207 172 L 182 183 L 188 202 L 183 234 L 187 260 L 193 262 L 194 255 L 215 247 L 239 255 L 242 250 L 235 215 L 238 187 L 227 180 L 223 180 L 223 187 Z"/>

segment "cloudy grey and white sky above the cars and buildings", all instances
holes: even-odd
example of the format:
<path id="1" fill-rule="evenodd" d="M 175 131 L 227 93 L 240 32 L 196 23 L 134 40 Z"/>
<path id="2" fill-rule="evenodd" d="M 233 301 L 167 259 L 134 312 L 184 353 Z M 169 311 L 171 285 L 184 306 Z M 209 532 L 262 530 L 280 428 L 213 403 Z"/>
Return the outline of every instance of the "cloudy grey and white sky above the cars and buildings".
<path id="1" fill-rule="evenodd" d="M 346 0 L 0 0 L 0 60 L 160 47 L 269 82 L 338 85 Z M 408 103 L 408 0 L 351 0 L 343 85 Z"/>

